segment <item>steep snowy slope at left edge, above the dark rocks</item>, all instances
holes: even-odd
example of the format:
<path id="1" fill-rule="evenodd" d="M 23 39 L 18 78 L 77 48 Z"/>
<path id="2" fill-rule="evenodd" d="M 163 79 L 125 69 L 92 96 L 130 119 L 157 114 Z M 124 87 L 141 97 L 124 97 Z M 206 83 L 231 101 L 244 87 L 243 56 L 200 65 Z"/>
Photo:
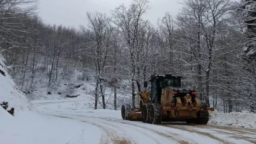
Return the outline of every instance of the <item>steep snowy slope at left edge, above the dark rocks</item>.
<path id="1" fill-rule="evenodd" d="M 9 107 L 15 108 L 15 114 L 19 111 L 30 111 L 32 106 L 28 102 L 27 98 L 20 92 L 15 82 L 9 76 L 8 71 L 6 71 L 6 66 L 3 63 L 4 59 L 0 55 L 0 69 L 4 71 L 5 76 L 0 74 L 0 103 L 8 102 Z"/>

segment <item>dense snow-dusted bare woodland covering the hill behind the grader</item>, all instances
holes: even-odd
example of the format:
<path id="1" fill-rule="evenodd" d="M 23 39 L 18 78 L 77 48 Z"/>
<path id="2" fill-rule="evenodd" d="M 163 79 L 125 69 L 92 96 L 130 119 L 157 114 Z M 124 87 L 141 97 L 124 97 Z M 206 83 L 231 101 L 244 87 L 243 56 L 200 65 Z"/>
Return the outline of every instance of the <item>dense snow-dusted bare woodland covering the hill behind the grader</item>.
<path id="1" fill-rule="evenodd" d="M 47 25 L 35 4 L 0 1 L 0 53 L 21 90 L 58 87 L 80 73 L 95 81 L 95 109 L 99 100 L 106 108 L 106 83 L 115 100 L 126 83 L 134 106 L 136 80 L 170 73 L 219 111 L 256 112 L 256 2 L 185 0 L 178 15 L 166 12 L 152 25 L 143 19 L 149 1 L 134 0 L 112 15 L 87 13 L 76 29 Z"/>

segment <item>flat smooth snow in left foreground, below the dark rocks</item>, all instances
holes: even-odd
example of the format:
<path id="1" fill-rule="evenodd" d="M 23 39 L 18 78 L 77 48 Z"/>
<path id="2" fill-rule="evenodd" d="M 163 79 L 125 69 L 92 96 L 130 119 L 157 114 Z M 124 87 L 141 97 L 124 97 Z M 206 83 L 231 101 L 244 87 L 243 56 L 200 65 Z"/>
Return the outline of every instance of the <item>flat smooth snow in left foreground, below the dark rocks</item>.
<path id="1" fill-rule="evenodd" d="M 34 112 L 13 117 L 4 109 L 0 116 L 0 143 L 4 144 L 99 143 L 101 138 L 99 128 L 80 121 Z"/>

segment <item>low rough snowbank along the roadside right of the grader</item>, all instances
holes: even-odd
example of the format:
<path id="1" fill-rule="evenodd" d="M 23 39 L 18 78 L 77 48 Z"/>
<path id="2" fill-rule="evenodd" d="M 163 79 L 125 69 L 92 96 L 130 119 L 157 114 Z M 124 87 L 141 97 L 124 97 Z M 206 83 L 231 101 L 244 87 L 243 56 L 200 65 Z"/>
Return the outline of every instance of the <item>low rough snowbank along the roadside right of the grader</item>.
<path id="1" fill-rule="evenodd" d="M 256 114 L 232 112 L 210 114 L 209 124 L 220 124 L 226 126 L 236 126 L 241 128 L 256 128 Z"/>

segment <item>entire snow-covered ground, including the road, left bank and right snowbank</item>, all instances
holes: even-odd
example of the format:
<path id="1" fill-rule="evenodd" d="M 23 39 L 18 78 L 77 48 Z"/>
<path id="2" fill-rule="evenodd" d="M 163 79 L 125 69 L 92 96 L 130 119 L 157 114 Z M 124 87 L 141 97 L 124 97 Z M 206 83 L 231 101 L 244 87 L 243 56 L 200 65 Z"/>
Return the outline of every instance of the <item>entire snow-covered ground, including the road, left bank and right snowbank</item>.
<path id="1" fill-rule="evenodd" d="M 124 121 L 120 111 L 93 109 L 94 100 L 88 93 L 93 83 L 68 92 L 63 85 L 60 90 L 52 90 L 51 95 L 42 88 L 30 95 L 36 99 L 30 102 L 18 90 L 1 59 L 0 64 L 6 73 L 0 74 L 0 102 L 9 102 L 9 109 L 15 107 L 15 116 L 0 107 L 0 143 L 256 143 L 256 129 L 250 129 L 255 128 L 255 114 L 214 112 L 207 125 Z M 66 98 L 66 93 L 79 96 Z M 113 100 L 110 93 L 107 90 L 109 107 Z"/>

